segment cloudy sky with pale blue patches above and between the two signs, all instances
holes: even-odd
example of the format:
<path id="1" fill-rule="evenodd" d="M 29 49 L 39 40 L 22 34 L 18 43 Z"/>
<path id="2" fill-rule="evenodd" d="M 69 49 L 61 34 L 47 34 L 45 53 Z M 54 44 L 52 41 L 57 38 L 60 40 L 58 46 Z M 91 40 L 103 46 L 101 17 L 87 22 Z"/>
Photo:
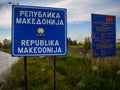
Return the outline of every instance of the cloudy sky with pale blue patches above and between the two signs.
<path id="1" fill-rule="evenodd" d="M 10 37 L 12 5 L 8 2 L 67 8 L 68 36 L 74 39 L 90 36 L 91 13 L 117 16 L 117 30 L 120 30 L 120 0 L 0 0 L 0 39 Z M 117 33 L 120 35 L 120 31 Z"/>

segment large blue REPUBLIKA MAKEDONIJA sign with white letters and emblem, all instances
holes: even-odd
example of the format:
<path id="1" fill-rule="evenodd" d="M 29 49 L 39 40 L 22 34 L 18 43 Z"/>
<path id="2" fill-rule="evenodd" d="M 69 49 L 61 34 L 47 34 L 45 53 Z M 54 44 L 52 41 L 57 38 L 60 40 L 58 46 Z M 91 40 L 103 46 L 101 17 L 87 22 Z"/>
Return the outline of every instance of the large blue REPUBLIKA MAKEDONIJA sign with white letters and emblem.
<path id="1" fill-rule="evenodd" d="M 66 9 L 12 6 L 13 56 L 58 56 L 66 53 Z"/>

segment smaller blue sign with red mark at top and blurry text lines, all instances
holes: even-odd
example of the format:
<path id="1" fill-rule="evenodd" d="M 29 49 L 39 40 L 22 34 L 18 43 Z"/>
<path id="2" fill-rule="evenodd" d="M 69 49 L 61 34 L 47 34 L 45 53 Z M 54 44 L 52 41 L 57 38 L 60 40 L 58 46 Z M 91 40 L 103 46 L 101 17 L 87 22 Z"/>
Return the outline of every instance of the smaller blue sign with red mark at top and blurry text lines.
<path id="1" fill-rule="evenodd" d="M 92 14 L 92 56 L 116 55 L 116 17 Z"/>

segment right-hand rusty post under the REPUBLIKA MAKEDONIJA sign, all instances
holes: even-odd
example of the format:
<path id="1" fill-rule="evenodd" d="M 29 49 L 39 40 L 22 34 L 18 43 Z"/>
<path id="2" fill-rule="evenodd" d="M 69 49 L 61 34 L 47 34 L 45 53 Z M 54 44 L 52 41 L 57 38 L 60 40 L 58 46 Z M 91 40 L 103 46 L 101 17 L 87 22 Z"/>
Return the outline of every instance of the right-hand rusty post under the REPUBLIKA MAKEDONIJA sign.
<path id="1" fill-rule="evenodd" d="M 56 56 L 53 56 L 53 90 L 56 90 Z"/>

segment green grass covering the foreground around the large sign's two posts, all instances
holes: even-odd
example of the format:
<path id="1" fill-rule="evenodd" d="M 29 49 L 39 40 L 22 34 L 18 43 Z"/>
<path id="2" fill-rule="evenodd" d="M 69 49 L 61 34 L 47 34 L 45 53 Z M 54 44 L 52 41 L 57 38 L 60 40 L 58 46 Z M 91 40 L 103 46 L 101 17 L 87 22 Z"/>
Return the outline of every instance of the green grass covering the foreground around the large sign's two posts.
<path id="1" fill-rule="evenodd" d="M 53 89 L 52 57 L 27 58 L 28 90 Z M 120 56 L 100 60 L 82 56 L 56 58 L 56 90 L 119 90 Z M 2 90 L 24 89 L 24 61 L 21 59 Z"/>

